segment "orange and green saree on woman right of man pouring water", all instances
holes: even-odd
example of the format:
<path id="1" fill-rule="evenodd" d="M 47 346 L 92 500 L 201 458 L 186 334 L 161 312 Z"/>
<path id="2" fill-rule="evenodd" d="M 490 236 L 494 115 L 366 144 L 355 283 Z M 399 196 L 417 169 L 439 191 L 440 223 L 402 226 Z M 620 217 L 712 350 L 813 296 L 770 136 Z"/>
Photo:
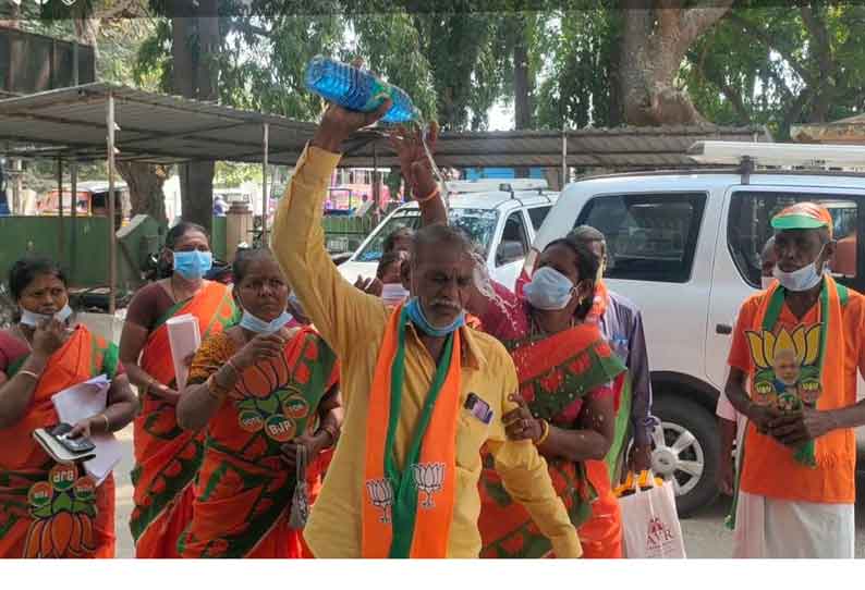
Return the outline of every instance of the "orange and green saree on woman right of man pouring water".
<path id="1" fill-rule="evenodd" d="M 552 336 L 507 342 L 505 346 L 516 366 L 520 394 L 532 414 L 562 428 L 573 427 L 561 416 L 563 410 L 625 372 L 624 365 L 593 324 L 583 323 Z M 592 516 L 592 502 L 597 497 L 585 466 L 549 458 L 547 464 L 571 523 L 580 527 Z M 482 557 L 531 558 L 551 552 L 549 539 L 505 491 L 488 453 L 484 454 L 479 490 Z"/>

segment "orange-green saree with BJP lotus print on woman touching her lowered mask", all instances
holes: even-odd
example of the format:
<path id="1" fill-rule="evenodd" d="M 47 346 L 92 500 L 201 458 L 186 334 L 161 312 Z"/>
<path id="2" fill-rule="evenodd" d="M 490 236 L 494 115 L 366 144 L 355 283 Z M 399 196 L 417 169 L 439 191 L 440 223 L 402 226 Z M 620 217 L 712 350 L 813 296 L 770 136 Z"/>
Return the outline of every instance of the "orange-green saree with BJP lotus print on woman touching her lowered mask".
<path id="1" fill-rule="evenodd" d="M 235 349 L 227 334 L 211 337 L 190 382 L 204 382 Z M 318 404 L 337 378 L 337 357 L 312 328 L 300 329 L 279 358 L 243 372 L 208 425 L 180 556 L 300 557 L 289 527 L 296 472 L 280 446 L 316 428 Z"/>

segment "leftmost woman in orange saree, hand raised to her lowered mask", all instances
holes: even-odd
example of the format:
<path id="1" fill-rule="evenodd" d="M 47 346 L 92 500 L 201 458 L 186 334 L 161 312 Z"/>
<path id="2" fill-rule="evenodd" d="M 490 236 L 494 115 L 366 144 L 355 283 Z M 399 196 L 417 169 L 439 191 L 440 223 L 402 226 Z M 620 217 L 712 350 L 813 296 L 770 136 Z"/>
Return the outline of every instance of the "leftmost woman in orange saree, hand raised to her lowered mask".
<path id="1" fill-rule="evenodd" d="M 137 404 L 117 346 L 70 328 L 66 281 L 53 261 L 19 260 L 9 285 L 21 319 L 0 331 L 0 557 L 113 557 L 112 476 L 97 485 L 82 465 L 54 463 L 33 432 L 60 421 L 53 395 L 102 374 L 111 380 L 105 409 L 73 425 L 70 438 L 132 421 Z"/>

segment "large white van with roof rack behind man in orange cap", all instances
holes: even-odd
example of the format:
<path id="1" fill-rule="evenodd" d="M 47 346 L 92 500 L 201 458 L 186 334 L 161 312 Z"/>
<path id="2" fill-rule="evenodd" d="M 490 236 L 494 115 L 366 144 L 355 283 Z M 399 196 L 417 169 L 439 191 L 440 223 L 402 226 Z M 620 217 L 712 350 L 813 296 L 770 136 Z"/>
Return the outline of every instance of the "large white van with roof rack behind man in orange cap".
<path id="1" fill-rule="evenodd" d="M 834 275 L 865 291 L 865 256 L 856 246 L 856 234 L 865 232 L 865 175 L 752 168 L 755 161 L 806 165 L 815 157 L 804 158 L 803 146 L 706 142 L 693 149 L 702 161 L 718 164 L 729 159 L 712 153 L 731 146 L 750 158 L 741 169 L 616 174 L 568 185 L 524 269 L 531 273 L 537 253 L 576 225 L 593 225 L 607 236 L 606 280 L 643 310 L 653 411 L 661 420 L 653 469 L 673 482 L 684 515 L 718 493 L 715 406 L 739 306 L 760 288 L 759 256 L 772 234 L 771 217 L 794 201 L 825 204 L 836 239 L 848 244 L 831 261 Z M 841 161 L 849 161 L 849 146 L 817 153 L 833 165 L 842 152 L 848 159 Z M 863 438 L 857 439 L 862 454 Z"/>

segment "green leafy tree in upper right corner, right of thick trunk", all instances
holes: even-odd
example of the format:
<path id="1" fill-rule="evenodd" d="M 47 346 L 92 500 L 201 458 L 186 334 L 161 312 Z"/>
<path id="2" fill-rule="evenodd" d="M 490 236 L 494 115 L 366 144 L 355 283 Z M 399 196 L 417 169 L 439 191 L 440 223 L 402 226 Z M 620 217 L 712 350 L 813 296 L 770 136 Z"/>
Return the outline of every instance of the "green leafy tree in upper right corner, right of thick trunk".
<path id="1" fill-rule="evenodd" d="M 719 123 L 766 124 L 787 139 L 793 123 L 865 108 L 865 7 L 734 9 L 689 52 L 683 77 Z"/>

